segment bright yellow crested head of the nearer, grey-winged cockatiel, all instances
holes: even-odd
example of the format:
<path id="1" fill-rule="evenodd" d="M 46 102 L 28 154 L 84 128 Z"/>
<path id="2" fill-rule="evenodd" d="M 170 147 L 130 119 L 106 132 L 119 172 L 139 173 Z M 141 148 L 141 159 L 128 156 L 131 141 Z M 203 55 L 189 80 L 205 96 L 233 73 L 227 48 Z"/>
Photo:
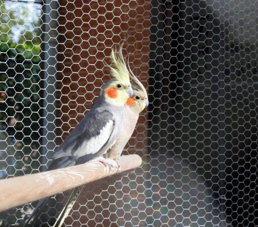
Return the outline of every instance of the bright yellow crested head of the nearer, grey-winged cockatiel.
<path id="1" fill-rule="evenodd" d="M 115 106 L 124 106 L 132 96 L 129 71 L 122 54 L 122 48 L 117 52 L 111 51 L 111 76 L 114 78 L 104 85 L 101 94 L 107 103 Z"/>

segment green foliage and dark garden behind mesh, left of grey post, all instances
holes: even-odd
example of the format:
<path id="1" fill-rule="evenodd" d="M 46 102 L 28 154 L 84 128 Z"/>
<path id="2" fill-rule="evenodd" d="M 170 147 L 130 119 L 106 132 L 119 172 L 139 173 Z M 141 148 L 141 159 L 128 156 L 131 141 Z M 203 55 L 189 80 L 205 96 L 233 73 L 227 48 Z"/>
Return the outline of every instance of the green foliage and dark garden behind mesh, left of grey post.
<path id="1" fill-rule="evenodd" d="M 0 179 L 40 166 L 43 56 L 41 4 L 0 1 Z M 15 224 L 12 210 L 0 214 Z M 5 216 L 5 218 L 4 218 Z M 2 221 L 1 221 L 2 220 Z"/>

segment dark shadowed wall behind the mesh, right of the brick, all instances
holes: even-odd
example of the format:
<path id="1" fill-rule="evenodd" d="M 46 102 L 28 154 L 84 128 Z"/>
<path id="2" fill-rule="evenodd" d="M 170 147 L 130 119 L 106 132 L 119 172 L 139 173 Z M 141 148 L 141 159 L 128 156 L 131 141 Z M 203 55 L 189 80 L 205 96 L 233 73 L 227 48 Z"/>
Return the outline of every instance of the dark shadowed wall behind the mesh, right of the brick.
<path id="1" fill-rule="evenodd" d="M 179 164 L 181 182 L 175 175 L 166 180 L 176 190 L 193 181 L 190 174 L 183 180 L 182 163 L 198 175 L 205 196 L 192 188 L 187 200 L 190 213 L 195 205 L 200 213 L 204 209 L 198 226 L 256 226 L 257 2 L 152 1 L 152 6 L 152 157 Z M 191 202 L 195 196 L 197 204 Z M 176 216 L 175 225 L 181 219 L 185 215 Z"/>

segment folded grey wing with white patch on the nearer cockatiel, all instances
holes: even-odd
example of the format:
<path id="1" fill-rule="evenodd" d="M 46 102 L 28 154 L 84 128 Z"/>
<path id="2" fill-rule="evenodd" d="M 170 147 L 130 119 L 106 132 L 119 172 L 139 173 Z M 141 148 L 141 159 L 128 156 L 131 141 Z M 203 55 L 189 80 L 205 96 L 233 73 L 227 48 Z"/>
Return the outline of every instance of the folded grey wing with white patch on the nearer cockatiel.
<path id="1" fill-rule="evenodd" d="M 55 150 L 49 169 L 75 165 L 81 157 L 83 162 L 96 157 L 109 142 L 114 125 L 110 111 L 90 111 Z"/>

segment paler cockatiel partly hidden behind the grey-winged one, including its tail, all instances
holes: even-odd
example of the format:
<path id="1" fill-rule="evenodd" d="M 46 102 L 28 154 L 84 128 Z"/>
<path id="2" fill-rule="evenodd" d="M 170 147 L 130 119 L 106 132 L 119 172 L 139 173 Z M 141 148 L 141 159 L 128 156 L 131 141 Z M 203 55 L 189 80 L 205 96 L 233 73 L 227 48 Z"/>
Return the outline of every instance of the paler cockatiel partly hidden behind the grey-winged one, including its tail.
<path id="1" fill-rule="evenodd" d="M 114 159 L 116 161 L 121 156 L 124 147 L 126 146 L 129 138 L 131 137 L 131 134 L 134 131 L 140 112 L 142 112 L 143 109 L 148 106 L 148 95 L 145 88 L 143 87 L 141 82 L 133 75 L 130 68 L 129 71 L 129 76 L 133 81 L 133 95 L 132 97 L 128 98 L 126 106 L 123 110 L 123 127 L 121 127 L 119 130 L 119 135 L 117 137 L 116 143 L 111 147 L 111 149 L 107 153 L 103 155 L 105 158 Z M 59 215 L 54 227 L 62 226 L 62 224 L 65 221 L 65 218 L 68 216 L 74 203 L 79 197 L 82 188 L 83 186 L 80 186 L 71 191 L 65 204 L 65 207 Z"/>

